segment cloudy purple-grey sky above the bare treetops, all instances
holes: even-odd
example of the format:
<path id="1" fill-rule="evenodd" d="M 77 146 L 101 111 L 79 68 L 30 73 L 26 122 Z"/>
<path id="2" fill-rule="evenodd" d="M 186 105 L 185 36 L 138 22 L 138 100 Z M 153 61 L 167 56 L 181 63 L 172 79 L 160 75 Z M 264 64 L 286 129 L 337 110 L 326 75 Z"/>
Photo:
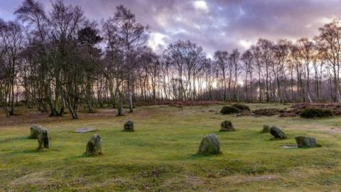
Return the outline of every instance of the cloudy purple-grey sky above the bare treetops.
<path id="1" fill-rule="evenodd" d="M 40 0 L 46 9 L 50 0 Z M 277 41 L 313 38 L 318 28 L 341 16 L 338 0 L 64 0 L 81 6 L 90 19 L 114 16 L 123 4 L 148 25 L 148 45 L 166 48 L 190 40 L 212 55 L 216 50 L 246 50 L 259 38 Z M 22 0 L 0 0 L 0 18 L 15 19 Z"/>

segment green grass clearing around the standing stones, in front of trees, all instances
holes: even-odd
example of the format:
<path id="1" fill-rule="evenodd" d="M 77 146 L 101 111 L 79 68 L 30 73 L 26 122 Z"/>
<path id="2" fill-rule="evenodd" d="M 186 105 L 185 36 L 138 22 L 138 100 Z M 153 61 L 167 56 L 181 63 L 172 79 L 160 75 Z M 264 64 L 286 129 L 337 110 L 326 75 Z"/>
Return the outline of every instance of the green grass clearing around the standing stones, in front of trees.
<path id="1" fill-rule="evenodd" d="M 217 114 L 221 107 L 139 107 L 126 117 L 41 117 L 20 123 L 20 116 L 11 117 L 12 124 L 0 127 L 0 191 L 340 190 L 341 117 L 235 117 Z M 127 119 L 134 120 L 136 132 L 122 132 Z M 231 120 L 237 132 L 219 132 L 224 120 Z M 27 139 L 32 122 L 48 129 L 50 149 L 36 151 L 38 142 Z M 282 127 L 288 139 L 261 134 L 264 124 Z M 73 133 L 80 127 L 98 129 L 102 156 L 82 156 L 94 133 Z M 220 139 L 222 154 L 196 155 L 210 133 Z M 296 144 L 300 135 L 316 137 L 322 147 L 281 148 Z"/>

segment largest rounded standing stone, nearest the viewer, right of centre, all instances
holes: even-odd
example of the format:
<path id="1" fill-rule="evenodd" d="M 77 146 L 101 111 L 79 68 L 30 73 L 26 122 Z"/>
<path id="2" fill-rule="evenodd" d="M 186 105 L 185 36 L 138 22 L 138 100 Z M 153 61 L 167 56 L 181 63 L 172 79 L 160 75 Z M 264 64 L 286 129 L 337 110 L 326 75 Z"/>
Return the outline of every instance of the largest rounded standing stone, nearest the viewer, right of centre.
<path id="1" fill-rule="evenodd" d="M 215 134 L 207 134 L 200 143 L 197 154 L 220 154 L 220 143 Z"/>

